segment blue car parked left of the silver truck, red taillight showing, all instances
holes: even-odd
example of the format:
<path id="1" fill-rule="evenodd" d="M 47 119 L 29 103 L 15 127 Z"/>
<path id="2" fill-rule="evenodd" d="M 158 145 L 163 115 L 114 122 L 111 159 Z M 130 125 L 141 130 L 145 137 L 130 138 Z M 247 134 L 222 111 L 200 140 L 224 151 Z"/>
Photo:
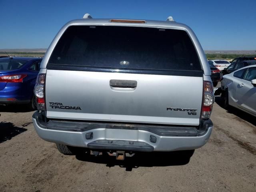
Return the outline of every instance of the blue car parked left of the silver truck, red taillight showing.
<path id="1" fill-rule="evenodd" d="M 0 58 L 0 105 L 28 104 L 36 109 L 34 86 L 42 58 Z"/>

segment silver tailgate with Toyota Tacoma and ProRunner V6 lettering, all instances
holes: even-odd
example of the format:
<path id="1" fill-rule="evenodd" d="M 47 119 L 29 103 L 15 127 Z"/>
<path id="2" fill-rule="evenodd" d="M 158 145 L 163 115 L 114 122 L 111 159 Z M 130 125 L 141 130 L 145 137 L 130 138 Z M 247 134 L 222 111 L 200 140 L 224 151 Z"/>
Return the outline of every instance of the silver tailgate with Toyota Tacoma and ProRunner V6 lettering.
<path id="1" fill-rule="evenodd" d="M 110 80 L 137 86 L 112 87 Z M 47 117 L 198 125 L 202 90 L 202 77 L 47 70 Z"/>

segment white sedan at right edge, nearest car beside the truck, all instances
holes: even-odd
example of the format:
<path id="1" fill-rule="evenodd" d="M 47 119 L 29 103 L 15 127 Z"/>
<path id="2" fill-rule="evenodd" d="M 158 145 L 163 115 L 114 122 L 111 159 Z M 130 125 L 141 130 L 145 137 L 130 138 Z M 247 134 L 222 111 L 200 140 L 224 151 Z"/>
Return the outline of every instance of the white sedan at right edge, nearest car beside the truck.
<path id="1" fill-rule="evenodd" d="M 224 75 L 221 81 L 224 106 L 234 106 L 256 116 L 256 65 Z"/>

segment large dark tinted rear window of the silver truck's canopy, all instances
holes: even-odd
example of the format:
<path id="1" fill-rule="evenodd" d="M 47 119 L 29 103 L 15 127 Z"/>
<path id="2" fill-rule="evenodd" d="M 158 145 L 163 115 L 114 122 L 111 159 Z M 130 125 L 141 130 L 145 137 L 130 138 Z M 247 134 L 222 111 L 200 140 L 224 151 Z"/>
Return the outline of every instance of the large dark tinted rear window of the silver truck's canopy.
<path id="1" fill-rule="evenodd" d="M 122 26 L 70 26 L 58 41 L 48 64 L 202 70 L 185 31 Z"/>

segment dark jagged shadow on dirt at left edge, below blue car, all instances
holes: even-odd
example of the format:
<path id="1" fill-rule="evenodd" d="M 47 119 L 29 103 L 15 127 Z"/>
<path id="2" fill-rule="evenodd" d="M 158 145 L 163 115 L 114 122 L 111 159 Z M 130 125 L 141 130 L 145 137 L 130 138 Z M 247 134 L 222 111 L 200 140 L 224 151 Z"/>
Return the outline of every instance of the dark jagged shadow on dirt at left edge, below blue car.
<path id="1" fill-rule="evenodd" d="M 0 143 L 10 140 L 16 135 L 26 131 L 27 129 L 24 127 L 30 124 L 32 124 L 32 122 L 26 123 L 22 125 L 22 128 L 20 128 L 14 126 L 14 124 L 11 122 L 0 122 Z"/>

